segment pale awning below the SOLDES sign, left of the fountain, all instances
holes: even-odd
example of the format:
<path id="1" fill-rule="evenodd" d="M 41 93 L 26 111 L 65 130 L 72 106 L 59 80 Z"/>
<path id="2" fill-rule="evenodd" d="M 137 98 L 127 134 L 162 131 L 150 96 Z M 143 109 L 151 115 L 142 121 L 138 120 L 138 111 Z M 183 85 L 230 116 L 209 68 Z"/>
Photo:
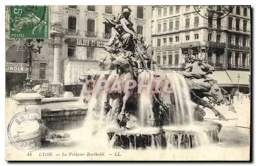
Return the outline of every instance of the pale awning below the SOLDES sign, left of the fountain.
<path id="1" fill-rule="evenodd" d="M 79 76 L 88 69 L 100 71 L 98 61 L 66 61 L 64 65 L 64 85 L 81 85 Z"/>

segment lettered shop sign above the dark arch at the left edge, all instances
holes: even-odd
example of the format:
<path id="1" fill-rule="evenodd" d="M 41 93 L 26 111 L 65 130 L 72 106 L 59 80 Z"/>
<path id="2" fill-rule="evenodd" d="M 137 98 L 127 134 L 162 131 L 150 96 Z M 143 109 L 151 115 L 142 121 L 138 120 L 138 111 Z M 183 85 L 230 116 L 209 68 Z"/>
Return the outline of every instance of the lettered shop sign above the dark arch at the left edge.
<path id="1" fill-rule="evenodd" d="M 26 73 L 27 72 L 27 64 L 25 63 L 13 63 L 6 62 L 5 71 L 8 73 Z"/>

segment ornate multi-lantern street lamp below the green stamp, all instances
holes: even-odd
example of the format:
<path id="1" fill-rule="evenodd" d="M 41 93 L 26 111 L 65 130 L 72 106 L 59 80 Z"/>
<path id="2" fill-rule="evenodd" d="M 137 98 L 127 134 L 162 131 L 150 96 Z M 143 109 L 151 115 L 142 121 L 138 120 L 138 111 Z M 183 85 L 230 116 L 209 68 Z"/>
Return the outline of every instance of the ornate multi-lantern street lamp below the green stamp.
<path id="1" fill-rule="evenodd" d="M 33 39 L 26 39 L 26 43 L 24 44 L 28 50 L 28 56 L 27 56 L 27 60 L 28 60 L 28 65 L 27 65 L 27 78 L 26 78 L 26 90 L 23 93 L 34 93 L 32 91 L 32 84 L 31 84 L 31 58 L 32 58 L 32 52 L 38 52 L 41 53 L 41 48 L 42 48 L 42 43 L 44 42 L 44 39 L 36 39 L 37 41 L 37 48 L 34 48 L 34 44 L 32 43 Z M 20 39 L 17 39 L 16 44 L 22 45 L 22 41 Z"/>

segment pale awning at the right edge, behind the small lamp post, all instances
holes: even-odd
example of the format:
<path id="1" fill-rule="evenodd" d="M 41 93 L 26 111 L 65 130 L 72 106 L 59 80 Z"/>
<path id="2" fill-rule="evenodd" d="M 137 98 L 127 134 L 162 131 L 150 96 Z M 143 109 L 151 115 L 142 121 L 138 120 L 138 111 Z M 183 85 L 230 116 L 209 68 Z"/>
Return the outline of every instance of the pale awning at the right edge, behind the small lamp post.
<path id="1" fill-rule="evenodd" d="M 238 74 L 240 76 L 239 85 L 241 86 L 249 85 L 249 75 L 251 74 L 250 71 L 226 70 L 226 72 L 229 75 L 233 85 L 238 85 Z"/>

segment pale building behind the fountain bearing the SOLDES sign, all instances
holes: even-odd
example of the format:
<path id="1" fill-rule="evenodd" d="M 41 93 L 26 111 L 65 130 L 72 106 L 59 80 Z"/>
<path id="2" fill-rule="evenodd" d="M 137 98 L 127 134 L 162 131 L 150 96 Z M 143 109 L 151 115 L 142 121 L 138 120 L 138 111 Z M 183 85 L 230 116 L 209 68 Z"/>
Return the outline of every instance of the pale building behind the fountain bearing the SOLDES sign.
<path id="1" fill-rule="evenodd" d="M 97 61 L 104 51 L 103 44 L 115 31 L 106 27 L 103 20 L 122 14 L 124 8 L 132 10 L 134 29 L 151 43 L 151 6 L 50 6 L 50 39 L 44 41 L 41 54 L 33 53 L 32 78 L 49 79 L 49 89 L 56 92 L 62 82 L 67 91 L 79 95 L 79 90 L 74 91 L 75 85 L 81 86 L 78 77 L 87 69 L 100 70 Z M 14 40 L 6 40 L 6 49 L 16 50 Z M 151 46 L 148 52 L 151 53 Z"/>

